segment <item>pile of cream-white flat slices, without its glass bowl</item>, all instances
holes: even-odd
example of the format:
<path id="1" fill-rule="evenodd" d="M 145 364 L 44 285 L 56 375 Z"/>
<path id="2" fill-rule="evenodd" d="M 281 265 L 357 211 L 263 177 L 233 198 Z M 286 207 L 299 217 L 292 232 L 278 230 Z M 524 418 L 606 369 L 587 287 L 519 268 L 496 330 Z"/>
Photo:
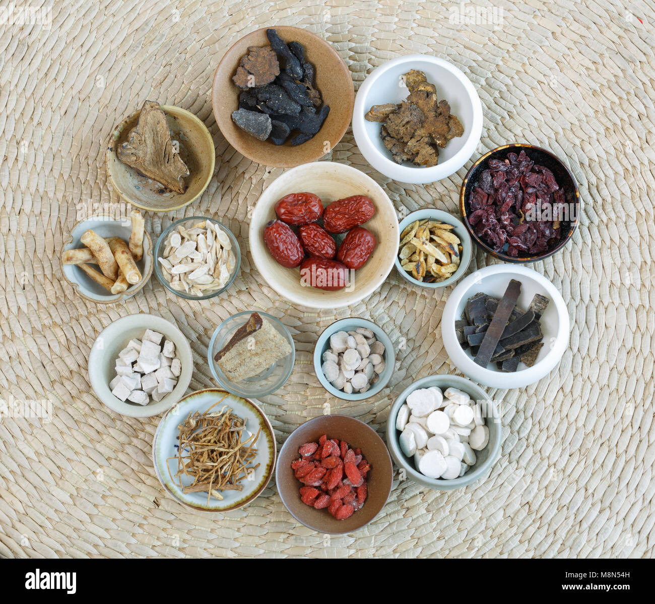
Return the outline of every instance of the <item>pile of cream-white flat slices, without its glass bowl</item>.
<path id="1" fill-rule="evenodd" d="M 178 225 L 164 242 L 159 267 L 178 292 L 208 295 L 227 285 L 236 269 L 236 255 L 221 227 L 203 220 L 191 228 Z"/>

